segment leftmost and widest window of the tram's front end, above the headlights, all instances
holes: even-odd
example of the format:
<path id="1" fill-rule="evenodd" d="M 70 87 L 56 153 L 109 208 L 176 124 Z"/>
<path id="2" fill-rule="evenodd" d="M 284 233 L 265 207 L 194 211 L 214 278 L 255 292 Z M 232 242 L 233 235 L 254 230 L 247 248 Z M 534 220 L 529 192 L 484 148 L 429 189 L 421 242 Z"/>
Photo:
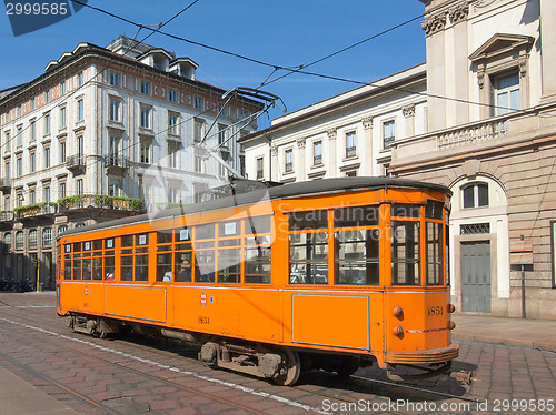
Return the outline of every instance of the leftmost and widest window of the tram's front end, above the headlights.
<path id="1" fill-rule="evenodd" d="M 391 283 L 419 285 L 419 223 L 393 221 Z"/>

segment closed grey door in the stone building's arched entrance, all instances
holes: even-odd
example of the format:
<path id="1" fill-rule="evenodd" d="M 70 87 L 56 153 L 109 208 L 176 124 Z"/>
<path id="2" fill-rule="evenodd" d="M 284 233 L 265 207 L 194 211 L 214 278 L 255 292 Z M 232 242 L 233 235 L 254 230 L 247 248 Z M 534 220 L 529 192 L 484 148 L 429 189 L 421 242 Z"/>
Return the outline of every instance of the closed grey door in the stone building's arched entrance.
<path id="1" fill-rule="evenodd" d="M 490 313 L 490 242 L 461 242 L 461 310 Z"/>

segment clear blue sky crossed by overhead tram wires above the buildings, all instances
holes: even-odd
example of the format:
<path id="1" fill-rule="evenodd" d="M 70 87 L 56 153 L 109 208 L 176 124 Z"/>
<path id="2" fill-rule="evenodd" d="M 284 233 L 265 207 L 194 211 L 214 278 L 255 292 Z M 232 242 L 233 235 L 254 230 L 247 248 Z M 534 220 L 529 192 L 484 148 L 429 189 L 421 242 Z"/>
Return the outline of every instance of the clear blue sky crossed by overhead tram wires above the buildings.
<path id="1" fill-rule="evenodd" d="M 90 0 L 89 4 L 142 24 L 158 24 L 192 0 Z M 137 28 L 85 8 L 39 31 L 13 37 L 0 7 L 0 90 L 40 75 L 50 60 L 79 42 L 107 45 L 120 34 L 133 38 Z M 199 0 L 163 28 L 165 31 L 280 67 L 307 64 L 339 49 L 419 17 L 418 0 Z M 370 82 L 425 61 L 425 34 L 418 19 L 308 70 Z M 141 30 L 138 39 L 148 34 Z M 222 89 L 259 87 L 271 69 L 228 57 L 162 34 L 148 43 L 190 57 L 197 79 Z M 284 72 L 277 72 L 282 74 Z M 282 98 L 288 111 L 356 88 L 356 84 L 292 74 L 264 90 Z M 277 110 L 270 117 L 280 115 Z"/>

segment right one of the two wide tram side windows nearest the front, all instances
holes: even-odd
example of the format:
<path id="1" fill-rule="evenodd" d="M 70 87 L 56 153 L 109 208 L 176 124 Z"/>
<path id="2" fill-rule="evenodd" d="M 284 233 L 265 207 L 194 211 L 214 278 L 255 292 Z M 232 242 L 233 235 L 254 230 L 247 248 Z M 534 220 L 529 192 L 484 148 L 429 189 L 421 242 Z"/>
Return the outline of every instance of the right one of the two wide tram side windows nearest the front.
<path id="1" fill-rule="evenodd" d="M 379 231 L 335 233 L 336 284 L 379 284 Z"/>

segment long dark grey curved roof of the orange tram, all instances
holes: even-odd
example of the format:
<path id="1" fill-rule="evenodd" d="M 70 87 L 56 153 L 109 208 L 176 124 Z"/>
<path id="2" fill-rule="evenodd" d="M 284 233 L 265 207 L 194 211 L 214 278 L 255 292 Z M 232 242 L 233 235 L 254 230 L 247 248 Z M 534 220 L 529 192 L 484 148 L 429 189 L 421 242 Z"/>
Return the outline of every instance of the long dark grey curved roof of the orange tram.
<path id="1" fill-rule="evenodd" d="M 188 214 L 211 212 L 234 206 L 245 206 L 249 204 L 261 203 L 265 201 L 311 196 L 319 194 L 330 194 L 345 191 L 374 190 L 374 189 L 430 190 L 451 195 L 451 191 L 443 184 L 420 182 L 408 179 L 365 178 L 365 176 L 322 179 L 308 182 L 290 183 L 274 188 L 265 186 L 251 192 L 238 193 L 235 195 L 215 199 L 207 202 L 171 208 L 160 212 L 143 213 L 140 215 L 127 216 L 109 222 L 97 223 L 89 226 L 68 230 L 58 235 L 58 239 L 73 234 L 99 231 L 103 229 L 113 229 L 123 225 L 153 222 L 169 217 L 178 217 Z"/>

